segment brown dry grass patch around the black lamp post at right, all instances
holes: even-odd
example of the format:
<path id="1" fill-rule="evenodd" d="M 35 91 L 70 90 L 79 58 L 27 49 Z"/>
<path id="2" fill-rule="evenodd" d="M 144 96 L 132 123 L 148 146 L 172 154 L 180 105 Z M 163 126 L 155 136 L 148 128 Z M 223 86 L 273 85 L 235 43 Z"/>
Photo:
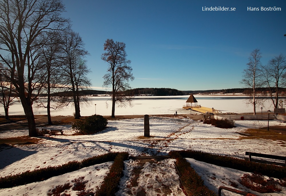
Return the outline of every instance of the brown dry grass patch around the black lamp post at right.
<path id="1" fill-rule="evenodd" d="M 281 127 L 281 129 L 285 130 L 285 127 Z M 281 131 L 283 131 L 281 130 Z M 277 129 L 271 130 L 269 127 L 269 131 L 267 129 L 247 129 L 243 133 L 239 133 L 241 135 L 240 139 L 270 139 L 273 141 L 285 141 L 286 135 L 282 132 L 277 131 Z"/>

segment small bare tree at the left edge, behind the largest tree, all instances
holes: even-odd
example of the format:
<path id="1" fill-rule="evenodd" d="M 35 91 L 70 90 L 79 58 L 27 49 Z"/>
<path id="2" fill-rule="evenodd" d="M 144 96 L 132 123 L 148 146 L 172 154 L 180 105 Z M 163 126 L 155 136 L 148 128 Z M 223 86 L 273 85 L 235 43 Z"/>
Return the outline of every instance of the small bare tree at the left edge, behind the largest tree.
<path id="1" fill-rule="evenodd" d="M 3 104 L 7 120 L 9 120 L 9 107 L 18 101 L 15 87 L 8 78 L 9 75 L 9 70 L 0 63 L 0 103 Z"/>

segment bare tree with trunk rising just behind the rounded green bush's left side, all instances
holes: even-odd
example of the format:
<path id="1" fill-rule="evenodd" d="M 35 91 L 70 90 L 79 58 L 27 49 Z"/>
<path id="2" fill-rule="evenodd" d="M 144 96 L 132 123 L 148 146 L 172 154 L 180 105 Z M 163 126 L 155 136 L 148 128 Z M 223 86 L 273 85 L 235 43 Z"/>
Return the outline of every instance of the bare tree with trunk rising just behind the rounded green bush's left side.
<path id="1" fill-rule="evenodd" d="M 78 33 L 64 32 L 62 37 L 62 89 L 72 92 L 72 102 L 75 107 L 75 118 L 80 118 L 80 100 L 87 101 L 80 91 L 89 89 L 91 82 L 86 77 L 90 70 L 83 59 L 88 55 L 84 42 Z M 67 100 L 68 101 L 68 100 Z"/>

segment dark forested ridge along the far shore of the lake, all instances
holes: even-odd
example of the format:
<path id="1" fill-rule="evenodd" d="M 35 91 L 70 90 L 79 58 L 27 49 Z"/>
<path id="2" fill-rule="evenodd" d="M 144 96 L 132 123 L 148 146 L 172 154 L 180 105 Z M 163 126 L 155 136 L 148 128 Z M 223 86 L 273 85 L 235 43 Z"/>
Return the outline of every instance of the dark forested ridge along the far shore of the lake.
<path id="1" fill-rule="evenodd" d="M 267 93 L 269 88 L 258 88 L 257 92 Z M 275 93 L 275 88 L 271 88 L 271 91 Z M 168 96 L 168 95 L 190 95 L 192 94 L 231 94 L 231 93 L 243 93 L 245 95 L 251 94 L 251 88 L 236 88 L 236 89 L 221 89 L 221 90 L 204 90 L 204 91 L 179 91 L 177 89 L 170 88 L 136 88 L 126 91 L 127 95 L 154 95 L 154 96 Z M 279 92 L 286 92 L 286 88 L 279 88 Z M 52 96 L 70 96 L 69 92 L 60 92 Z M 97 90 L 84 90 L 81 91 L 82 95 L 111 95 L 111 91 L 97 91 Z"/>

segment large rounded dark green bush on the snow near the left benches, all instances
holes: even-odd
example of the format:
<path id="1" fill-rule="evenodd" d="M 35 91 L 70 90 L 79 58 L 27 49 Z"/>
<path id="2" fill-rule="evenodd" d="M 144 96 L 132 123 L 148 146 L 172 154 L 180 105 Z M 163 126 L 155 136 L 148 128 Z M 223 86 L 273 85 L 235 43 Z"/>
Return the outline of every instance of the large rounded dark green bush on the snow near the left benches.
<path id="1" fill-rule="evenodd" d="M 101 115 L 92 115 L 83 120 L 76 120 L 72 124 L 72 129 L 84 135 L 97 133 L 106 128 L 107 119 Z"/>

